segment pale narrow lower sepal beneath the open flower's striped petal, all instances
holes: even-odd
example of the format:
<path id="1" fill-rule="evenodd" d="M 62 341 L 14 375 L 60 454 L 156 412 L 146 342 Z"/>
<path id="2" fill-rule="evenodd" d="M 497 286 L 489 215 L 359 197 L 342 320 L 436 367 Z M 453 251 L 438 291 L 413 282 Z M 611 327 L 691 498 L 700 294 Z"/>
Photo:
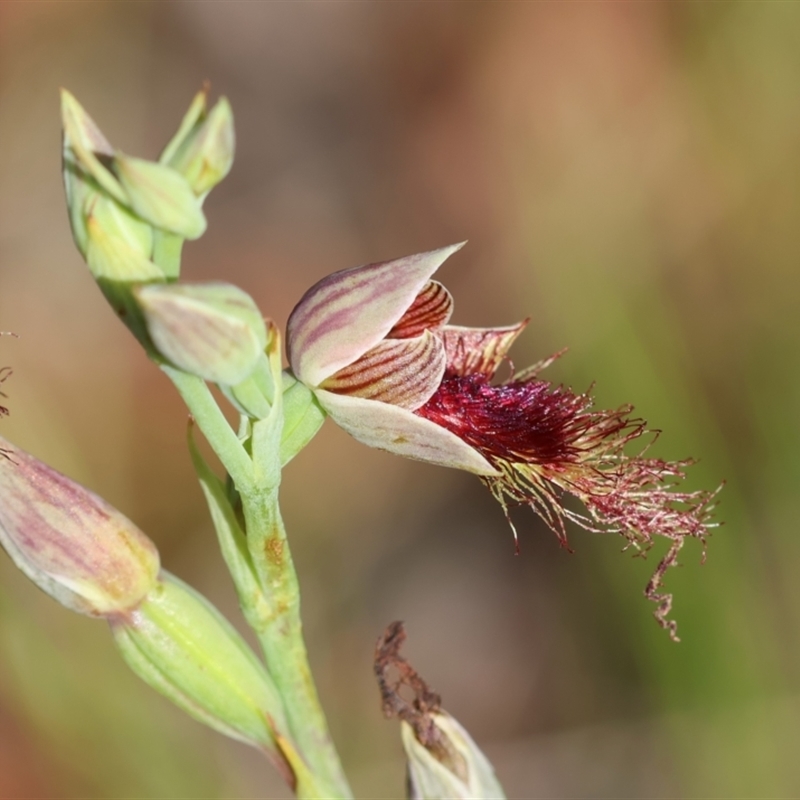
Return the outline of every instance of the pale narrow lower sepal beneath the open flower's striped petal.
<path id="1" fill-rule="evenodd" d="M 445 428 L 388 403 L 318 389 L 320 405 L 334 422 L 368 447 L 476 475 L 500 473 L 473 447 Z"/>

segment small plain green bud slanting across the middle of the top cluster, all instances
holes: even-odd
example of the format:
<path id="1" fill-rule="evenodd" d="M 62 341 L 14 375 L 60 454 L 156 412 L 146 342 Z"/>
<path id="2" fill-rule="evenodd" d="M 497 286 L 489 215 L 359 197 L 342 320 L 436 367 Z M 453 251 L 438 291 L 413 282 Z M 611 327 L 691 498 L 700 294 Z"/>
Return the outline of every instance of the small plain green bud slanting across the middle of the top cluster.
<path id="1" fill-rule="evenodd" d="M 189 182 L 172 167 L 117 152 L 114 172 L 130 207 L 146 222 L 197 239 L 205 233 L 206 218 Z"/>

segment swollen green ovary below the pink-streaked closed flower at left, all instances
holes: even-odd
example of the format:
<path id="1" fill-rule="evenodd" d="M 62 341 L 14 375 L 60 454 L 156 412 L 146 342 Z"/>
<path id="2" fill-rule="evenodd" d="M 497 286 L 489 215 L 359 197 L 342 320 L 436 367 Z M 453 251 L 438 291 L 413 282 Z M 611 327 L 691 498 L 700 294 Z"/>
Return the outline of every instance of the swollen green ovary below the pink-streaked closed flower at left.
<path id="1" fill-rule="evenodd" d="M 123 658 L 195 719 L 278 756 L 283 704 L 266 669 L 202 595 L 172 575 L 132 614 L 112 621 Z"/>

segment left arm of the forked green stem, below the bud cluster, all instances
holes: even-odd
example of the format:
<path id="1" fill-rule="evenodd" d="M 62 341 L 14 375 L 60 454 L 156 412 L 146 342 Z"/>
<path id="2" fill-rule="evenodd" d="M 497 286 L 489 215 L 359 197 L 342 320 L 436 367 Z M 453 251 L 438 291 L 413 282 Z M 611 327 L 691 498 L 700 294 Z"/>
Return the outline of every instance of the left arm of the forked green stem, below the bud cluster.
<path id="1" fill-rule="evenodd" d="M 228 424 L 228 420 L 225 419 L 225 415 L 220 411 L 205 381 L 168 364 L 159 366 L 175 384 L 197 426 L 236 486 L 242 487 L 252 483 L 253 465 L 250 457 Z"/>

